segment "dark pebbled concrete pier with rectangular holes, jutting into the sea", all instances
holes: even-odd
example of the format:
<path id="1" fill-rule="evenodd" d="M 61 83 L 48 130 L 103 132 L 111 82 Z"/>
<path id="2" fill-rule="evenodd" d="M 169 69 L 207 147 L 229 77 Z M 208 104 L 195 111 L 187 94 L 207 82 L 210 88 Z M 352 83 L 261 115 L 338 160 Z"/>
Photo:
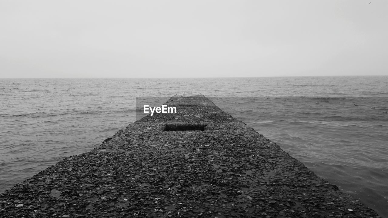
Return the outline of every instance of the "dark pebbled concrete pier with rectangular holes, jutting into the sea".
<path id="1" fill-rule="evenodd" d="M 203 95 L 165 105 L 0 194 L 0 217 L 378 217 Z"/>

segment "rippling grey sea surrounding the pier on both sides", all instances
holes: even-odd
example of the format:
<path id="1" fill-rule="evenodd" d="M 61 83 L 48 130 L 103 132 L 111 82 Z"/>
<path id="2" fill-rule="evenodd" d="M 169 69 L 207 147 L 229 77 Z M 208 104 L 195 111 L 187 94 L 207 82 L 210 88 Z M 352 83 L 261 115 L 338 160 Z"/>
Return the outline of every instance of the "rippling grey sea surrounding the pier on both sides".
<path id="1" fill-rule="evenodd" d="M 201 93 L 388 218 L 388 76 L 0 79 L 0 193 Z M 136 114 L 138 116 L 136 116 Z"/>

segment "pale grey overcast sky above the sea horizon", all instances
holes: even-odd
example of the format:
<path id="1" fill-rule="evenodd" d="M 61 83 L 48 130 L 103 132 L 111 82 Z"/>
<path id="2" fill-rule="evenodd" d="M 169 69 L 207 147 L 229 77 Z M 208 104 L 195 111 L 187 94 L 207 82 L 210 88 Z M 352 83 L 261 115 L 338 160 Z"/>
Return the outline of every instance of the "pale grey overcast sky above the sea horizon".
<path id="1" fill-rule="evenodd" d="M 386 0 L 0 0 L 0 78 L 388 75 L 387 21 Z"/>

